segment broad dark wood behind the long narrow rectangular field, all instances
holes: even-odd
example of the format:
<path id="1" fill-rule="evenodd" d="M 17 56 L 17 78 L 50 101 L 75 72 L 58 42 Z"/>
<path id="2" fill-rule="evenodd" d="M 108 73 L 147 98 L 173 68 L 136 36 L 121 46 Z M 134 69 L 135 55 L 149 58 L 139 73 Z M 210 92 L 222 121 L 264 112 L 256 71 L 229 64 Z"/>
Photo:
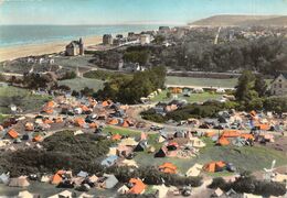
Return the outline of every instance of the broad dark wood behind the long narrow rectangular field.
<path id="1" fill-rule="evenodd" d="M 190 40 L 174 48 L 167 48 L 166 54 L 167 56 L 176 54 L 176 65 L 179 69 L 206 72 L 248 69 L 274 75 L 278 70 L 287 69 L 285 45 L 285 38 L 274 36 L 253 41 L 235 40 L 217 45 L 211 41 Z"/>

